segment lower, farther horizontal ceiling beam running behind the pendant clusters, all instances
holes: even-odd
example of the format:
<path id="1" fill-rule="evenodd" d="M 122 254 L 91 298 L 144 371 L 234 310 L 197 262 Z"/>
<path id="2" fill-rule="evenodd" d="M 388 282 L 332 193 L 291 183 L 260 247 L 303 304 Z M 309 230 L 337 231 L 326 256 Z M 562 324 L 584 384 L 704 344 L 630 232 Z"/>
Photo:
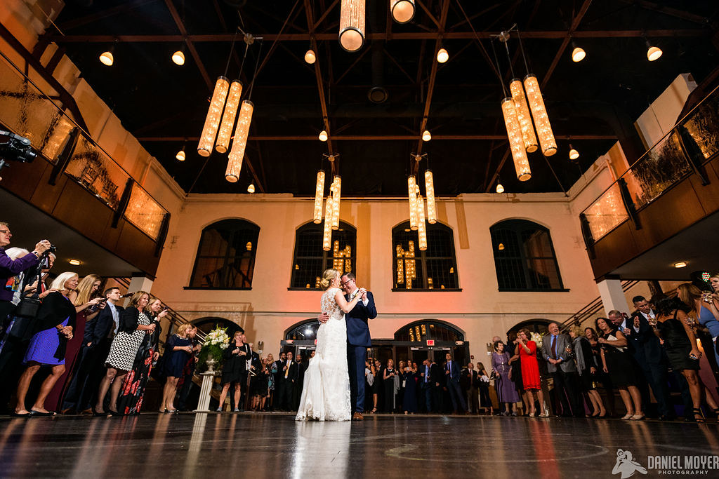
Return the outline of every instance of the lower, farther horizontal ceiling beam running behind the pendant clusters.
<path id="1" fill-rule="evenodd" d="M 560 140 L 616 140 L 616 135 L 554 135 Z M 420 135 L 342 135 L 332 136 L 335 141 L 385 141 L 385 140 L 418 140 Z M 506 140 L 506 134 L 485 134 L 485 135 L 432 135 L 432 141 L 442 140 Z M 319 141 L 317 136 L 296 135 L 249 135 L 249 141 Z M 137 136 L 137 141 L 200 141 L 199 136 Z"/>

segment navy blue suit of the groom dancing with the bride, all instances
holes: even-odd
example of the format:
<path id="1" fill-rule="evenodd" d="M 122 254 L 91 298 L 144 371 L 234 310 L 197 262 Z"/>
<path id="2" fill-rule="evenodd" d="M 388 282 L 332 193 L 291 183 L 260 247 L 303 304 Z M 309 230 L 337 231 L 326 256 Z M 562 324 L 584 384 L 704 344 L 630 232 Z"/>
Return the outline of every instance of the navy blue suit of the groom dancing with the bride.
<path id="1" fill-rule="evenodd" d="M 344 296 L 349 301 L 349 294 Z M 372 345 L 367 320 L 377 317 L 375 298 L 367 292 L 367 306 L 359 299 L 357 305 L 344 316 L 347 323 L 347 369 L 349 372 L 349 400 L 354 411 L 365 411 L 365 361 L 367 348 Z"/>

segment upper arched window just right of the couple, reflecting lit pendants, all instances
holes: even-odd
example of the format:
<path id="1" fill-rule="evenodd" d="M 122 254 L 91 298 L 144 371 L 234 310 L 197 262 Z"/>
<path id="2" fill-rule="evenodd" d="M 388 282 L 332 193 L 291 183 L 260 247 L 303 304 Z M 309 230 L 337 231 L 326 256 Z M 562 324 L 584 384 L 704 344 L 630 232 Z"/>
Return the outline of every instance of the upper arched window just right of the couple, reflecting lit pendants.
<path id="1" fill-rule="evenodd" d="M 392 228 L 393 290 L 459 289 L 452 229 L 428 224 L 427 249 L 420 251 L 418 244 L 409 221 Z"/>

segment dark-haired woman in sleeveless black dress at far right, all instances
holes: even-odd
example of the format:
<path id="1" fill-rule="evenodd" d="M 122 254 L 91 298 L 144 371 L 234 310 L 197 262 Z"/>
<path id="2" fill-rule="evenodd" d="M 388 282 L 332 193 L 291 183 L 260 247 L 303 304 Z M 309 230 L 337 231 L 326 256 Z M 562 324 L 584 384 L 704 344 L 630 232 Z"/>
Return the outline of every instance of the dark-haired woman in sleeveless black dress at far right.
<path id="1" fill-rule="evenodd" d="M 696 288 L 693 284 L 688 284 L 692 288 Z M 689 288 L 679 289 L 687 299 L 692 299 L 692 292 L 687 291 Z M 698 291 L 698 288 L 697 288 Z M 682 376 L 689 383 L 689 391 L 692 396 L 692 414 L 696 422 L 704 422 L 702 414 L 702 396 L 705 396 L 707 405 L 713 409 L 715 414 L 719 413 L 717 406 L 709 389 L 702 383 L 699 376 L 699 358 L 702 353 L 697 348 L 697 338 L 694 330 L 690 326 L 690 318 L 687 312 L 690 307 L 684 303 L 681 297 L 679 299 L 663 297 L 656 304 L 656 324 L 657 335 L 664 340 L 664 350 L 667 351 L 669 363 L 675 371 L 680 371 Z"/>

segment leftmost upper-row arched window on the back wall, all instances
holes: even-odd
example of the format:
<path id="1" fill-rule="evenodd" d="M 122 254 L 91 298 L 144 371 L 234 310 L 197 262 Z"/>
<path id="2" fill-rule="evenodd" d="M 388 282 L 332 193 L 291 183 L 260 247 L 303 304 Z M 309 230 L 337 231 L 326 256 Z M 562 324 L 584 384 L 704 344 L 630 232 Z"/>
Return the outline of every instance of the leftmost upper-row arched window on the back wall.
<path id="1" fill-rule="evenodd" d="M 222 220 L 202 231 L 191 288 L 249 289 L 260 227 L 245 220 Z"/>

